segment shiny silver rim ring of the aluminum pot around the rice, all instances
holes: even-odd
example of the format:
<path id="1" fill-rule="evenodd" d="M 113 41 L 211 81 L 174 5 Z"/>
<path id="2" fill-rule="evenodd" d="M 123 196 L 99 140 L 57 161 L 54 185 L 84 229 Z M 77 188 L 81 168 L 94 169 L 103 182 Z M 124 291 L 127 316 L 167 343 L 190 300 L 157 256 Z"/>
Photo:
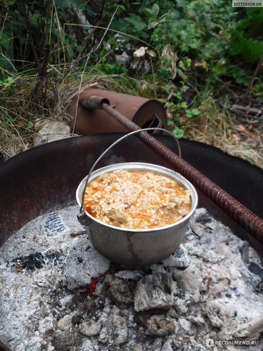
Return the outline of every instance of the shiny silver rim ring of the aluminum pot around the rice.
<path id="1" fill-rule="evenodd" d="M 104 225 L 105 227 L 114 228 L 114 229 L 116 229 L 117 231 L 120 231 L 120 232 L 149 233 L 149 232 L 160 231 L 162 229 L 167 229 L 167 228 L 170 228 L 170 227 L 173 227 L 173 226 L 176 227 L 177 225 L 180 225 L 182 222 L 186 221 L 194 213 L 194 211 L 195 211 L 195 209 L 197 207 L 197 203 L 198 203 L 198 196 L 197 196 L 197 192 L 195 190 L 195 187 L 186 178 L 184 178 L 180 173 L 175 172 L 173 170 L 170 170 L 169 168 L 166 168 L 166 167 L 162 167 L 162 166 L 155 165 L 155 164 L 150 164 L 150 163 L 142 163 L 142 162 L 117 163 L 117 164 L 113 164 L 113 165 L 109 165 L 109 166 L 105 166 L 105 167 L 99 168 L 99 169 L 95 170 L 94 172 L 92 172 L 90 174 L 89 183 L 94 178 L 98 177 L 101 173 L 112 172 L 112 171 L 119 170 L 119 169 L 124 169 L 124 170 L 148 170 L 148 171 L 154 171 L 154 172 L 156 172 L 158 174 L 163 174 L 163 175 L 171 177 L 171 178 L 175 178 L 176 180 L 180 181 L 180 183 L 182 183 L 182 185 L 184 185 L 188 190 L 190 190 L 190 192 L 191 192 L 191 200 L 192 200 L 191 210 L 185 217 L 183 217 L 181 220 L 179 220 L 178 222 L 175 222 L 173 224 L 169 224 L 169 225 L 166 225 L 166 226 L 163 226 L 163 227 L 158 227 L 158 228 L 151 228 L 151 229 L 129 229 L 129 228 L 116 227 L 116 226 L 104 223 L 104 222 L 102 222 L 102 221 L 90 216 L 90 214 L 83 207 L 83 211 L 84 211 L 85 215 L 88 218 L 92 219 L 93 221 L 96 221 L 98 224 Z M 81 195 L 82 195 L 83 188 L 84 188 L 85 181 L 86 181 L 87 177 L 88 176 L 86 176 L 85 178 L 83 178 L 81 180 L 81 182 L 80 182 L 80 184 L 79 184 L 79 186 L 77 187 L 77 190 L 76 190 L 76 199 L 77 199 L 77 203 L 78 203 L 79 206 L 81 206 Z"/>

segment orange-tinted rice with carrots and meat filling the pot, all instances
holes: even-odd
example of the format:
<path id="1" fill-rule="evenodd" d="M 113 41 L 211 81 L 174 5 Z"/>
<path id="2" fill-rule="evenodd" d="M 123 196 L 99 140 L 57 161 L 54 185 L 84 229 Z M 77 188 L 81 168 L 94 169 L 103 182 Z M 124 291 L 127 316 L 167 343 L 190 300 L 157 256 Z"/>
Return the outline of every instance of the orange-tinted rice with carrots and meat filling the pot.
<path id="1" fill-rule="evenodd" d="M 173 224 L 189 213 L 190 191 L 153 172 L 116 170 L 92 180 L 84 207 L 96 219 L 129 229 Z"/>

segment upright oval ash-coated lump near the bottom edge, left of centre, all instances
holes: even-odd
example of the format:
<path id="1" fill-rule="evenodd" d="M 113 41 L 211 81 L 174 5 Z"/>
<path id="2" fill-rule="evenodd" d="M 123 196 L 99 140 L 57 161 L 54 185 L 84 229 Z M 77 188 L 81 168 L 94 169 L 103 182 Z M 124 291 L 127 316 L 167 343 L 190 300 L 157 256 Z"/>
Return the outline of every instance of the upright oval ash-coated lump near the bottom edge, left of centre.
<path id="1" fill-rule="evenodd" d="M 125 318 L 114 314 L 107 327 L 107 333 L 115 345 L 122 345 L 128 342 L 128 328 Z"/>

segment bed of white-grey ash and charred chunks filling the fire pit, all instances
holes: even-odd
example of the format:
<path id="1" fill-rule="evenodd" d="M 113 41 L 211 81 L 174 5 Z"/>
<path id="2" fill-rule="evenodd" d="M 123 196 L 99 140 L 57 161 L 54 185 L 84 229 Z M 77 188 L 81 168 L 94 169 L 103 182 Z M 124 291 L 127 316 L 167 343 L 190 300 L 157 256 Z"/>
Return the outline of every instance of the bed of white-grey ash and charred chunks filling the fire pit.
<path id="1" fill-rule="evenodd" d="M 259 340 L 251 350 L 262 350 L 261 261 L 207 210 L 196 210 L 173 255 L 139 269 L 91 249 L 78 210 L 36 218 L 1 248 L 0 340 L 11 350 L 205 351 L 207 338 Z M 79 289 L 92 278 L 94 292 Z"/>

